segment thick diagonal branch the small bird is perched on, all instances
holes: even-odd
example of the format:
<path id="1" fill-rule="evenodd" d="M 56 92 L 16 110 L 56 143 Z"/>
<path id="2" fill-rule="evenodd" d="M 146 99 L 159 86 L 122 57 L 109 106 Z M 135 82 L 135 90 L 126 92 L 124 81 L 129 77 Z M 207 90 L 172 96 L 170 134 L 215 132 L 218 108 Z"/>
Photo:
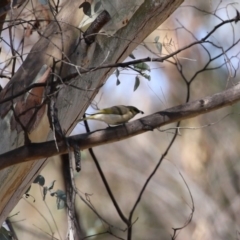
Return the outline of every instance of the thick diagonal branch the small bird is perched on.
<path id="1" fill-rule="evenodd" d="M 75 135 L 69 137 L 68 141 L 76 141 L 79 144 L 80 149 L 83 150 L 106 143 L 124 140 L 169 123 L 196 117 L 232 105 L 239 100 L 240 84 L 221 93 L 214 94 L 213 96 L 169 108 L 124 125 L 97 130 L 92 133 Z M 43 143 L 32 143 L 14 149 L 0 155 L 0 169 L 22 162 L 63 154 L 68 151 L 66 141 L 59 142 L 58 147 L 59 152 L 56 149 L 55 142 L 48 141 Z"/>

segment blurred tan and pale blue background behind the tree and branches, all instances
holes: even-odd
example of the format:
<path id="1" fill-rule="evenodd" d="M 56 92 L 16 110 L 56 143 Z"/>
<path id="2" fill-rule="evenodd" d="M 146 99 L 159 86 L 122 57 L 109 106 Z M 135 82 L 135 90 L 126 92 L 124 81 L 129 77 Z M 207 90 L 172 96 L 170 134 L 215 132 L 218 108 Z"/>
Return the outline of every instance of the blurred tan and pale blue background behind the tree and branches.
<path id="1" fill-rule="evenodd" d="M 136 58 L 163 56 L 201 39 L 220 23 L 240 11 L 234 1 L 185 1 L 167 21 L 159 26 L 133 55 Z M 16 36 L 17 37 L 17 36 Z M 162 52 L 156 46 L 159 37 Z M 209 41 L 227 49 L 240 38 L 239 23 L 217 30 Z M 33 44 L 31 36 L 27 45 Z M 215 57 L 222 52 L 204 44 Z M 190 99 L 195 100 L 221 92 L 239 82 L 239 50 L 237 44 L 229 52 L 211 62 L 208 71 L 197 74 L 189 85 Z M 29 51 L 29 50 L 28 50 Z M 130 59 L 127 59 L 130 60 Z M 120 84 L 113 74 L 101 88 L 88 113 L 112 105 L 134 105 L 145 115 L 183 104 L 187 99 L 186 80 L 201 70 L 208 54 L 201 45 L 181 52 L 171 62 L 150 63 L 151 80 L 140 77 L 133 91 L 136 72 L 120 70 Z M 224 64 L 226 63 L 227 64 Z M 222 67 L 218 67 L 222 65 Z M 181 72 L 177 69 L 181 69 Z M 185 80 L 183 78 L 185 77 Z M 150 181 L 133 219 L 133 239 L 171 239 L 172 228 L 182 227 L 192 212 L 191 223 L 178 232 L 177 239 L 239 239 L 240 224 L 240 148 L 239 104 L 223 108 L 181 123 L 178 137 L 160 168 Z M 101 122 L 89 122 L 91 130 L 105 128 Z M 94 152 L 123 213 L 128 215 L 148 176 L 171 141 L 176 124 L 139 136 L 94 148 Z M 72 134 L 83 133 L 79 124 Z M 41 175 L 49 186 L 64 190 L 62 165 L 58 159 L 49 161 Z M 116 226 L 113 233 L 126 238 L 125 224 L 119 218 L 88 151 L 82 152 L 82 170 L 75 174 L 76 185 L 87 193 L 100 215 Z M 186 182 L 186 183 L 185 183 Z M 187 185 L 186 185 L 187 184 Z M 191 196 L 189 194 L 189 190 Z M 56 198 L 42 200 L 42 188 L 32 184 L 32 197 L 23 197 L 12 211 L 10 220 L 19 239 L 65 239 L 66 209 L 57 210 Z M 108 229 L 85 203 L 77 198 L 79 222 L 85 234 Z M 119 230 L 119 229 L 122 230 Z M 49 234 L 49 235 L 48 235 Z M 91 239 L 114 239 L 110 234 Z"/>

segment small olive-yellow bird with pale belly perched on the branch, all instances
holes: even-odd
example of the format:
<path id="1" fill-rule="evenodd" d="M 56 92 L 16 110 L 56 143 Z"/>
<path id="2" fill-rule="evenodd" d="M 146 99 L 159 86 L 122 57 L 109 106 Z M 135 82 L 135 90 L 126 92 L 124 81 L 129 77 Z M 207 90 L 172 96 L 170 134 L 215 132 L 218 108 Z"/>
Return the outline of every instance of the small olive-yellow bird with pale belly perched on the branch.
<path id="1" fill-rule="evenodd" d="M 98 112 L 90 114 L 86 118 L 80 119 L 80 121 L 97 120 L 105 122 L 108 125 L 119 125 L 128 122 L 138 113 L 143 114 L 144 112 L 133 106 L 118 105 L 110 108 L 100 109 Z"/>

